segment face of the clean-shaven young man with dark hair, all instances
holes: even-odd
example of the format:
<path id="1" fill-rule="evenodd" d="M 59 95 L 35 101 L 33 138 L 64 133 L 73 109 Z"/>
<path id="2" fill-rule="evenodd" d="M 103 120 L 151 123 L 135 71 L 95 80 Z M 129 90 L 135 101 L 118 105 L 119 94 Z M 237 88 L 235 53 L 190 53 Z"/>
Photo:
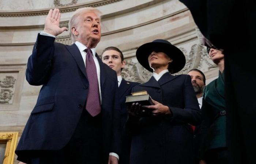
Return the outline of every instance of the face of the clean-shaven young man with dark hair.
<path id="1" fill-rule="evenodd" d="M 117 76 L 121 75 L 121 69 L 125 66 L 125 61 L 122 62 L 120 53 L 115 50 L 107 50 L 101 56 L 102 62 L 116 71 Z"/>

